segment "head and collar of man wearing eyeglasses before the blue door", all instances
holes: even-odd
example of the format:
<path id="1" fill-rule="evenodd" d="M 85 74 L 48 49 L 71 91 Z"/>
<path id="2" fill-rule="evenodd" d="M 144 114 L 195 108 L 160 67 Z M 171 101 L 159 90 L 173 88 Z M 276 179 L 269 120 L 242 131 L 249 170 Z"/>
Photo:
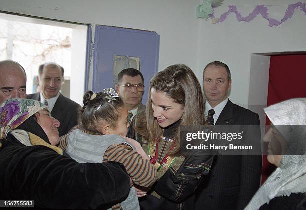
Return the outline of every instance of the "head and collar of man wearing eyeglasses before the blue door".
<path id="1" fill-rule="evenodd" d="M 134 68 L 123 69 L 118 74 L 116 91 L 127 107 L 130 122 L 137 113 L 145 111 L 145 106 L 141 103 L 144 79 L 140 71 Z M 130 131 L 127 136 L 129 133 Z"/>

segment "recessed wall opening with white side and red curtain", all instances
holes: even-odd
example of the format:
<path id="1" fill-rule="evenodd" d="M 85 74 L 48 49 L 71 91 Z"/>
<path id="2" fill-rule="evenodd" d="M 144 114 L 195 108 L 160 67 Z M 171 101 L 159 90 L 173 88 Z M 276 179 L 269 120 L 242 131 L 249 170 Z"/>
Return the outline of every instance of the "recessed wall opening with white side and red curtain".
<path id="1" fill-rule="evenodd" d="M 265 125 L 270 125 L 263 108 L 290 98 L 306 97 L 305 60 L 305 51 L 252 54 L 248 104 L 249 109 L 259 114 L 261 139 L 267 132 Z M 274 169 L 264 156 L 262 183 Z"/>

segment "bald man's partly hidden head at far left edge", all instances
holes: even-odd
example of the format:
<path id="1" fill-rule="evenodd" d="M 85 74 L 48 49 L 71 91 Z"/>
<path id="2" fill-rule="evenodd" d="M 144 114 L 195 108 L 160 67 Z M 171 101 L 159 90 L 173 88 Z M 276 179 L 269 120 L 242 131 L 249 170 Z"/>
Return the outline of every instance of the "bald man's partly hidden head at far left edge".
<path id="1" fill-rule="evenodd" d="M 0 104 L 9 98 L 26 98 L 24 68 L 12 60 L 0 62 Z"/>

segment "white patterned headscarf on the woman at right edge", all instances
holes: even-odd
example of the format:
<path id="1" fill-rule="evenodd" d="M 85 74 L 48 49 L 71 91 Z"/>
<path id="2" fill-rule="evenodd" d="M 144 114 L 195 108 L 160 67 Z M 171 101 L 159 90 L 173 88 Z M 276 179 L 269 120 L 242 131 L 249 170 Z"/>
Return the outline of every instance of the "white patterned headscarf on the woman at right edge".
<path id="1" fill-rule="evenodd" d="M 283 101 L 264 111 L 288 141 L 286 154 L 293 154 L 294 151 L 303 155 L 284 155 L 280 166 L 259 188 L 245 210 L 257 210 L 275 197 L 306 192 L 306 98 Z"/>

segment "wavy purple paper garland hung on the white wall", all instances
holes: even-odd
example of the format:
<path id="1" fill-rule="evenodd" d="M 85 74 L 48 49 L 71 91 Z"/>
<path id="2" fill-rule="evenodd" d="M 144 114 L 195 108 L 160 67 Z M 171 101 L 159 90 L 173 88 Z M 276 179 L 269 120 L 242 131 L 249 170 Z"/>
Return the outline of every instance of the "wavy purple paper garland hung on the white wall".
<path id="1" fill-rule="evenodd" d="M 250 22 L 255 17 L 257 17 L 258 14 L 261 14 L 261 16 L 264 19 L 269 21 L 269 26 L 273 27 L 273 26 L 279 26 L 283 22 L 285 22 L 289 18 L 291 18 L 298 7 L 300 8 L 301 11 L 303 11 L 306 14 L 306 3 L 302 3 L 302 2 L 297 2 L 297 3 L 294 3 L 294 4 L 288 5 L 288 8 L 287 8 L 287 10 L 285 12 L 285 15 L 280 20 L 280 22 L 278 20 L 276 20 L 276 19 L 268 17 L 269 14 L 267 13 L 267 7 L 265 7 L 264 5 L 257 5 L 255 7 L 255 9 L 248 16 L 246 16 L 246 17 L 242 17 L 240 12 L 238 12 L 236 6 L 228 6 L 228 7 L 229 7 L 229 10 L 227 12 L 224 12 L 219 18 L 217 18 L 217 20 L 215 20 L 215 23 L 223 22 L 230 13 L 235 13 L 236 17 L 237 17 L 237 20 L 239 22 L 241 22 L 241 21 Z M 213 19 L 215 19 L 215 16 L 212 14 L 210 16 L 210 18 L 213 20 Z"/>

